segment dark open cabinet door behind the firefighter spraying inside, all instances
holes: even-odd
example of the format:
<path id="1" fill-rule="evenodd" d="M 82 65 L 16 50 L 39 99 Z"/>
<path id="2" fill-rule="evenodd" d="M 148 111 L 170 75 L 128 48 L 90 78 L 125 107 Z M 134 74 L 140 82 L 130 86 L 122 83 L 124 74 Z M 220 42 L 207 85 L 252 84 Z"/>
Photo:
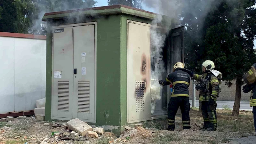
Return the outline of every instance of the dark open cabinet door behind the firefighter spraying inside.
<path id="1" fill-rule="evenodd" d="M 176 62 L 182 62 L 184 64 L 184 26 L 178 27 L 178 28 L 173 28 L 171 30 L 171 33 L 169 34 L 169 41 L 170 41 L 170 54 L 169 56 L 169 72 L 172 73 L 172 68 L 173 65 Z M 171 92 L 168 91 L 168 103 L 171 98 Z M 177 112 L 177 114 L 181 115 L 180 108 Z"/>

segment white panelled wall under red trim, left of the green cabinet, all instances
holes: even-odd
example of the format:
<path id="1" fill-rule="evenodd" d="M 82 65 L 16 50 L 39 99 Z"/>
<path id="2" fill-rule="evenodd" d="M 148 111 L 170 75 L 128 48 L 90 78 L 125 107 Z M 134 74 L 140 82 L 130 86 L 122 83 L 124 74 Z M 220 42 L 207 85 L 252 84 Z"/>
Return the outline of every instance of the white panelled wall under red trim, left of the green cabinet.
<path id="1" fill-rule="evenodd" d="M 0 114 L 34 110 L 45 97 L 46 40 L 0 36 Z"/>

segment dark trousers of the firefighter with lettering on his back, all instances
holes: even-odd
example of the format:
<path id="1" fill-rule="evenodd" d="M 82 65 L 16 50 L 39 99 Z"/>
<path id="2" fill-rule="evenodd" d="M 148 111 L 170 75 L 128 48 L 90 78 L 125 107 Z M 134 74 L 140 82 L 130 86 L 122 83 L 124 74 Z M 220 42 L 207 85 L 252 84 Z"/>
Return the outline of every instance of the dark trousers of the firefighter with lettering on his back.
<path id="1" fill-rule="evenodd" d="M 183 129 L 190 129 L 189 110 L 190 103 L 189 97 L 171 97 L 168 104 L 168 128 L 175 129 L 175 115 L 180 107 L 182 114 Z"/>

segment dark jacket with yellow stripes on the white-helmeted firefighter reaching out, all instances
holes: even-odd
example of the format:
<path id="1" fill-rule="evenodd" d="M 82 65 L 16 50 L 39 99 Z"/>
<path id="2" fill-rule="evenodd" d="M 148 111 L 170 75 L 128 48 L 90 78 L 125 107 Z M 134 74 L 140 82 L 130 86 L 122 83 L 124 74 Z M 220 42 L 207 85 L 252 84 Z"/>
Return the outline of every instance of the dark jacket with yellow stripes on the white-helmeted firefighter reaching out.
<path id="1" fill-rule="evenodd" d="M 212 74 L 212 72 L 207 72 L 203 75 L 194 74 L 193 78 L 195 78 L 197 81 L 205 81 L 206 83 L 207 91 L 200 91 L 200 101 L 208 101 L 210 98 L 212 98 L 215 101 L 217 100 L 217 96 L 220 90 L 219 80 L 216 76 Z"/>

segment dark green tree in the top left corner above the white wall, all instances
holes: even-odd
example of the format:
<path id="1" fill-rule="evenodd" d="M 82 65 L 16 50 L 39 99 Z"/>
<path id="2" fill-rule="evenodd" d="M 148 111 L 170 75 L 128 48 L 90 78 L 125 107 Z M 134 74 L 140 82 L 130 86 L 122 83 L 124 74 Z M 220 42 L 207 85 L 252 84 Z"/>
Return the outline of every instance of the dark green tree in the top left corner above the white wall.
<path id="1" fill-rule="evenodd" d="M 17 14 L 13 0 L 0 0 L 0 31 L 16 32 Z"/>

